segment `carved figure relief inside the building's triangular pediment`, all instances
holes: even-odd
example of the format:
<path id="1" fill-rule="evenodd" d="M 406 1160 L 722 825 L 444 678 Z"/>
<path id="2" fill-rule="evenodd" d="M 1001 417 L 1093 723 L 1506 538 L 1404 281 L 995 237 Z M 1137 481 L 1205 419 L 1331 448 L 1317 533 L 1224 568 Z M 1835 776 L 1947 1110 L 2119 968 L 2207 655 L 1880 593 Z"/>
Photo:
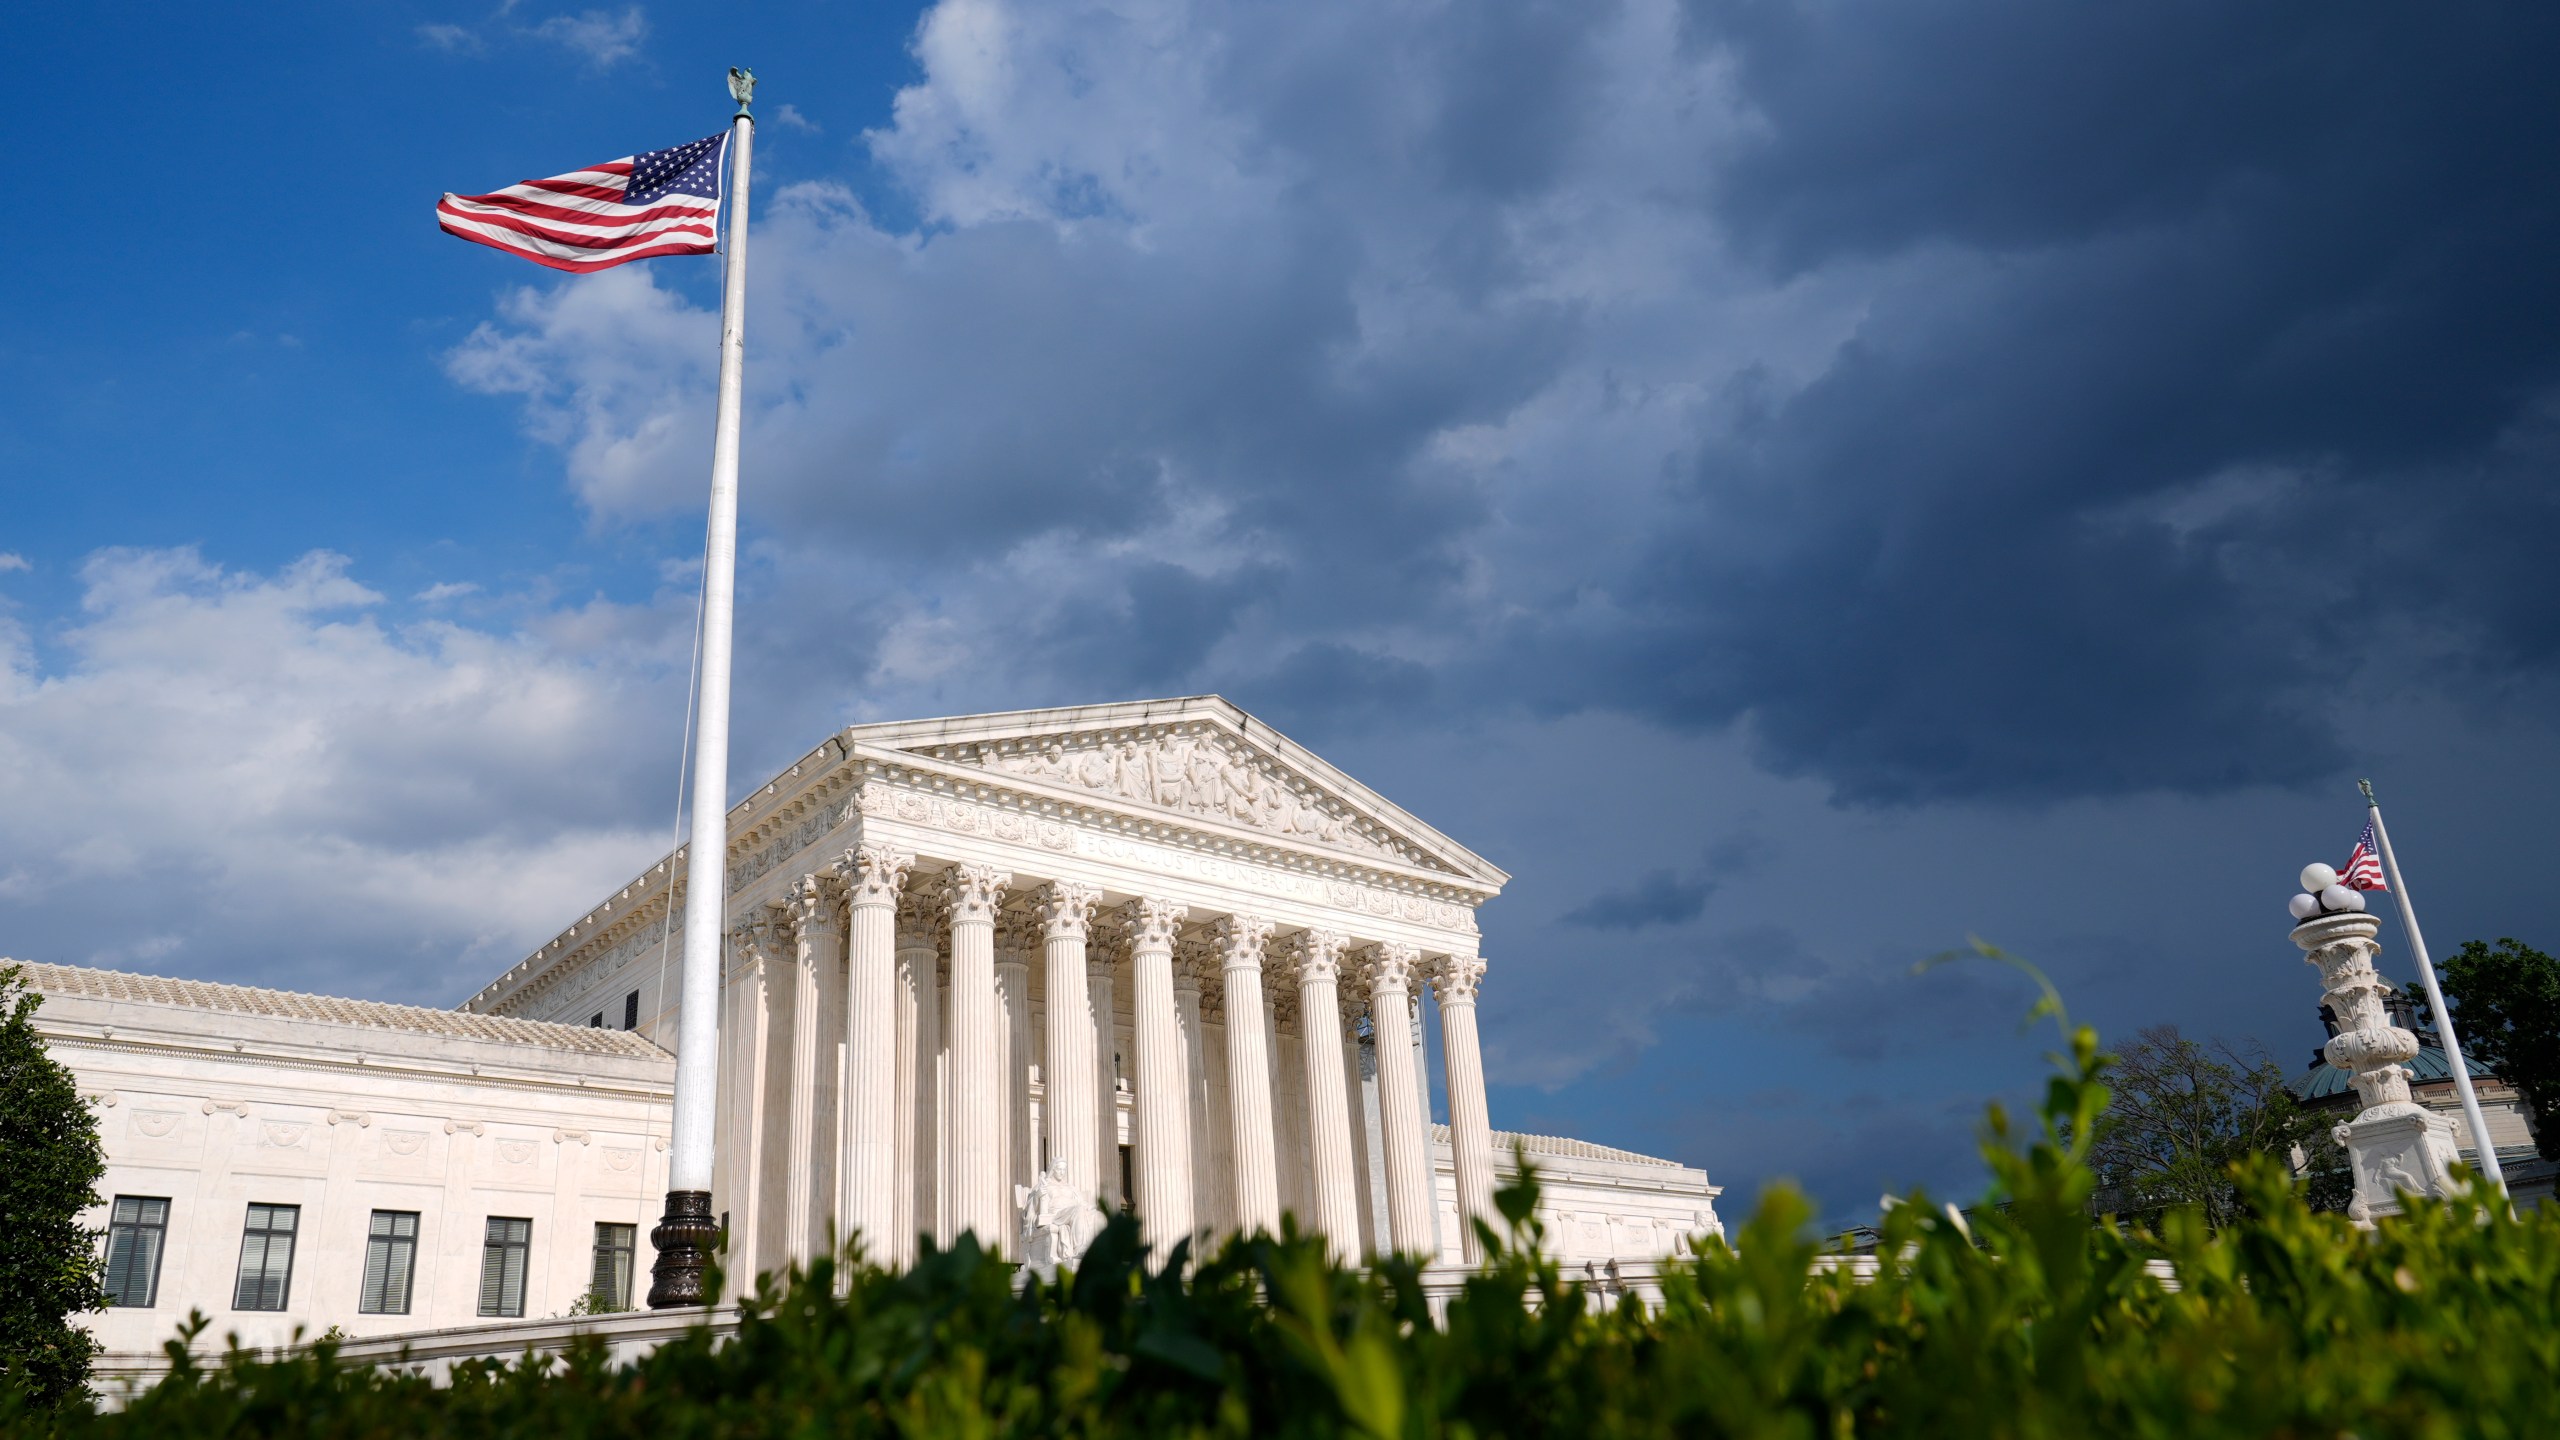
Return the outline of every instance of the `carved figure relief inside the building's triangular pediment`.
<path id="1" fill-rule="evenodd" d="M 1362 856 L 1421 863 L 1421 851 L 1372 833 L 1339 799 L 1316 792 L 1303 779 L 1247 751 L 1226 735 L 1155 735 L 1114 740 L 1106 735 L 1050 735 L 1021 748 L 942 746 L 934 758 L 986 766 L 1024 779 L 1044 779 L 1155 805 L 1183 815 L 1203 815 L 1280 835 L 1334 846 Z"/>

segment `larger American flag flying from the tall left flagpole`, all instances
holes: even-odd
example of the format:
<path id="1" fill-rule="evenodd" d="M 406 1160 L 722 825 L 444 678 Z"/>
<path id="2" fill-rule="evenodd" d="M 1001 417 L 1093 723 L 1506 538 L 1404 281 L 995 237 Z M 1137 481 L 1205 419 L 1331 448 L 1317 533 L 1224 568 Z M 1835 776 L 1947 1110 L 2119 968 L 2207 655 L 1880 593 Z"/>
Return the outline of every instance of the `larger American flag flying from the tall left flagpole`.
<path id="1" fill-rule="evenodd" d="M 525 256 L 550 269 L 604 269 L 627 259 L 704 256 L 717 249 L 719 177 L 730 136 L 704 136 L 497 195 L 445 195 L 435 223 L 448 236 Z"/>

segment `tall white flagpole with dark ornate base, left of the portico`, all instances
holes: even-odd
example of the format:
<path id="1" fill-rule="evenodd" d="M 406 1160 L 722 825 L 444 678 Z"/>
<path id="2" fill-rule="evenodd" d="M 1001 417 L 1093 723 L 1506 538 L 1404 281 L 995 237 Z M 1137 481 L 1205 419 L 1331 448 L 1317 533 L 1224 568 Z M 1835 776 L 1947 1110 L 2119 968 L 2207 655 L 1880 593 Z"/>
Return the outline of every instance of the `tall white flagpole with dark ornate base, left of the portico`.
<path id="1" fill-rule="evenodd" d="M 737 407 L 748 354 L 748 177 L 755 72 L 730 69 L 730 215 L 719 290 L 719 420 L 712 430 L 712 523 L 701 546 L 701 720 L 694 728 L 694 828 L 686 840 L 684 969 L 676 1010 L 676 1120 L 668 1135 L 666 1217 L 650 1230 L 648 1304 L 709 1304 L 712 1115 L 719 1107 L 719 935 L 730 879 L 730 618 L 737 584 Z"/>

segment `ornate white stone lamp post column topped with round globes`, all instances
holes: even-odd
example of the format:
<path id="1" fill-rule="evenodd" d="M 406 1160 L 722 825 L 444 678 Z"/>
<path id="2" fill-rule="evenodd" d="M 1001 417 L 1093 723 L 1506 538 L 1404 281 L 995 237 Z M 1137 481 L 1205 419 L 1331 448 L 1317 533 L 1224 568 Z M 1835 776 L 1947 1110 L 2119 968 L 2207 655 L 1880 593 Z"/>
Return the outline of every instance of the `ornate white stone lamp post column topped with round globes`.
<path id="1" fill-rule="evenodd" d="M 2409 1099 L 2404 1066 L 2417 1058 L 2417 1035 L 2391 1025 L 2383 1010 L 2391 986 L 2373 971 L 2381 925 L 2365 915 L 2365 897 L 2340 887 L 2330 866 L 2304 869 L 2301 884 L 2294 943 L 2319 966 L 2322 999 L 2337 1017 L 2324 1053 L 2365 1102 L 2355 1120 L 2332 1130 L 2355 1171 L 2348 1217 L 2373 1225 L 2376 1215 L 2401 1212 L 2401 1194 L 2452 1194 L 2452 1120 Z"/>

